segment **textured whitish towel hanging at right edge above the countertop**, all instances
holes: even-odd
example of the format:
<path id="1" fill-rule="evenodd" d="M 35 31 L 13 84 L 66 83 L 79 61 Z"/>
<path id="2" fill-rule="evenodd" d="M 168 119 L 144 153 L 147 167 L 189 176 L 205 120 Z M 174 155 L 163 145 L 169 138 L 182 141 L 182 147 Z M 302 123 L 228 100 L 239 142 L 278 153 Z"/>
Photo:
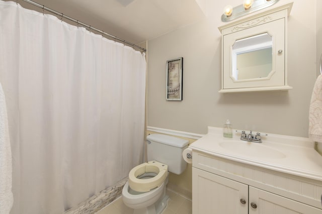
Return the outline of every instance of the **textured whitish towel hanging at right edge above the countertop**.
<path id="1" fill-rule="evenodd" d="M 315 142 L 322 142 L 322 74 L 314 84 L 308 119 L 308 137 Z"/>

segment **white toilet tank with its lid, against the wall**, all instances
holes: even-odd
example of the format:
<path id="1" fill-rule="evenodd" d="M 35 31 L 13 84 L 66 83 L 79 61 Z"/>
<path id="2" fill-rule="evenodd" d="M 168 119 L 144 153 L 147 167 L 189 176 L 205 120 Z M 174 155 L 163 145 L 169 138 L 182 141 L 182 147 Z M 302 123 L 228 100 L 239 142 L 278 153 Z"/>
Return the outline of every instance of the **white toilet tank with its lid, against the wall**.
<path id="1" fill-rule="evenodd" d="M 169 172 L 181 174 L 187 168 L 182 152 L 189 141 L 169 135 L 151 134 L 147 140 L 147 161 L 158 161 L 168 165 Z"/>

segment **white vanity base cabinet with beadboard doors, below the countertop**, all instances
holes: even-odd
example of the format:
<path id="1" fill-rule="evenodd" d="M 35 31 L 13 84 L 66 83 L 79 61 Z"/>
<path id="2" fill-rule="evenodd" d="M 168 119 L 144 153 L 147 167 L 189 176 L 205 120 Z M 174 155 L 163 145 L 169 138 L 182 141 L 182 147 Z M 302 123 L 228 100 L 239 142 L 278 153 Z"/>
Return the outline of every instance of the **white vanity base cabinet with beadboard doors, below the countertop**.
<path id="1" fill-rule="evenodd" d="M 321 214 L 321 181 L 193 151 L 193 214 Z"/>

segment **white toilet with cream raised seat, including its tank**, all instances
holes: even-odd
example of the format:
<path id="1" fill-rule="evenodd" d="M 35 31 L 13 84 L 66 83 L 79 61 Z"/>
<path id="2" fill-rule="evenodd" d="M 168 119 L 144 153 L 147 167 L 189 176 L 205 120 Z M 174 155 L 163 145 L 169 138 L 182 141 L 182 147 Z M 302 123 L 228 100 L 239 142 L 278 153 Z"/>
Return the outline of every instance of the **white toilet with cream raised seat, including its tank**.
<path id="1" fill-rule="evenodd" d="M 187 167 L 182 152 L 188 140 L 162 134 L 151 134 L 147 140 L 147 163 L 134 167 L 122 190 L 125 205 L 134 214 L 159 214 L 167 206 L 168 171 L 181 174 Z"/>

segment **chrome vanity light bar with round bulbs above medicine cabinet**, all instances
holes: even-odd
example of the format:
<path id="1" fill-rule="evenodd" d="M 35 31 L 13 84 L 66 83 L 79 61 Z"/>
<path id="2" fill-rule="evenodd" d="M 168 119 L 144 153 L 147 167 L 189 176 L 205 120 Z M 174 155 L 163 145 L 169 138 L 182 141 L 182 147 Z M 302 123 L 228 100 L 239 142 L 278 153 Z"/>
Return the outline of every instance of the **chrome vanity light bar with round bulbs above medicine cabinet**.
<path id="1" fill-rule="evenodd" d="M 222 22 L 230 22 L 234 19 L 260 11 L 276 4 L 279 0 L 244 0 L 243 5 L 232 8 L 230 5 L 224 7 L 221 16 Z"/>

